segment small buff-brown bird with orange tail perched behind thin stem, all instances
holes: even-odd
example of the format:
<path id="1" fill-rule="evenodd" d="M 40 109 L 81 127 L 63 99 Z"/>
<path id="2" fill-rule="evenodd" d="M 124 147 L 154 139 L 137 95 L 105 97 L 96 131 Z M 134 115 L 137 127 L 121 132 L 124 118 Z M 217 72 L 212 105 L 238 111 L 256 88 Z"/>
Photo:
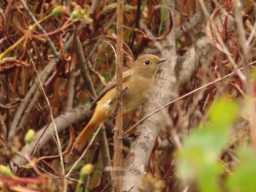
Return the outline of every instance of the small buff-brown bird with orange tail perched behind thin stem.
<path id="1" fill-rule="evenodd" d="M 128 112 L 139 107 L 150 96 L 154 88 L 154 77 L 159 64 L 166 59 L 156 55 L 143 55 L 123 74 L 123 88 L 127 88 L 123 95 L 123 111 Z M 76 139 L 75 148 L 82 150 L 91 136 L 94 128 L 105 122 L 113 115 L 116 108 L 116 80 L 110 82 L 91 106 L 94 110 L 91 120 Z"/>

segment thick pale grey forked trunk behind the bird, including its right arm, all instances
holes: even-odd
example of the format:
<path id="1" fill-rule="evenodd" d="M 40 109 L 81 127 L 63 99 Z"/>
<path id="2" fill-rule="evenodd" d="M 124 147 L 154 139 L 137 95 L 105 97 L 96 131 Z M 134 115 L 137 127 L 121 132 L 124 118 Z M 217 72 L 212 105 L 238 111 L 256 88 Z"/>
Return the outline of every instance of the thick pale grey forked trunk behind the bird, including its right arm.
<path id="1" fill-rule="evenodd" d="M 174 7 L 174 3 L 170 3 Z M 173 14 L 173 13 L 172 13 Z M 173 18 L 175 16 L 173 15 Z M 173 24 L 175 26 L 175 24 Z M 207 37 L 198 39 L 195 47 L 191 47 L 177 64 L 176 34 L 172 30 L 162 44 L 160 50 L 162 58 L 167 61 L 160 66 L 155 80 L 156 90 L 146 104 L 143 104 L 142 116 L 162 107 L 176 99 L 178 88 L 189 80 L 200 64 L 208 64 L 208 58 L 213 53 L 213 47 Z M 197 50 L 197 52 L 196 52 Z M 159 129 L 167 126 L 170 118 L 167 108 L 147 118 L 138 126 L 138 137 L 132 142 L 131 150 L 124 162 L 123 191 L 141 191 L 142 180 L 148 169 L 148 160 L 154 147 Z"/>

